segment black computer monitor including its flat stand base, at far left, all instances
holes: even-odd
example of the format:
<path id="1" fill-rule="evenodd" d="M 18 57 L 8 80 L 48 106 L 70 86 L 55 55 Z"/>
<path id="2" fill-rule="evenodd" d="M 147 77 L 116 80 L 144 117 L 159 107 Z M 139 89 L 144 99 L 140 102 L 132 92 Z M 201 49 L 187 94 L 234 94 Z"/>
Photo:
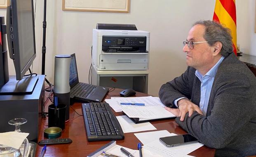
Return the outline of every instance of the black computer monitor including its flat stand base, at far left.
<path id="1" fill-rule="evenodd" d="M 10 0 L 10 5 L 7 6 L 6 37 L 16 78 L 0 77 L 0 95 L 32 93 L 38 80 L 38 77 L 24 77 L 36 56 L 33 7 L 33 0 Z M 1 35 L 4 33 L 1 32 Z M 2 41 L 4 40 L 5 36 L 2 37 Z M 2 47 L 5 47 L 3 50 L 6 49 L 5 45 Z M 9 76 L 7 52 L 0 55 L 0 61 L 5 63 L 0 64 L 0 75 Z"/>

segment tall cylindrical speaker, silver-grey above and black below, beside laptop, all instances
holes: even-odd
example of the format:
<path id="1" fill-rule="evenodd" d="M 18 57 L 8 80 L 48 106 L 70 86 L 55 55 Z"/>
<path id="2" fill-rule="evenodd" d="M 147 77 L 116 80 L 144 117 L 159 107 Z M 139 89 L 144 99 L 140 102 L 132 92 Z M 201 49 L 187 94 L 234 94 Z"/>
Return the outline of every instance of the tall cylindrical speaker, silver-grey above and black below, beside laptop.
<path id="1" fill-rule="evenodd" d="M 69 66 L 70 55 L 56 55 L 54 61 L 54 96 L 59 104 L 66 105 L 66 121 L 69 120 L 70 86 Z"/>

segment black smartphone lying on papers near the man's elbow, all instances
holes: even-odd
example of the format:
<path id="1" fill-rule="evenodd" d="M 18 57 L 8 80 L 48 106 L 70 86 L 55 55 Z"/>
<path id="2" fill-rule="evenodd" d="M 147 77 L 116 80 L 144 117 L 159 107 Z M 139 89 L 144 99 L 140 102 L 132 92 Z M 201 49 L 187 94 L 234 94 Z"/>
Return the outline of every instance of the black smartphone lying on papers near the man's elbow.
<path id="1" fill-rule="evenodd" d="M 160 142 L 164 144 L 164 146 L 172 147 L 180 144 L 197 142 L 198 140 L 193 137 L 191 134 L 182 134 L 176 136 L 169 137 L 161 137 L 159 138 Z"/>

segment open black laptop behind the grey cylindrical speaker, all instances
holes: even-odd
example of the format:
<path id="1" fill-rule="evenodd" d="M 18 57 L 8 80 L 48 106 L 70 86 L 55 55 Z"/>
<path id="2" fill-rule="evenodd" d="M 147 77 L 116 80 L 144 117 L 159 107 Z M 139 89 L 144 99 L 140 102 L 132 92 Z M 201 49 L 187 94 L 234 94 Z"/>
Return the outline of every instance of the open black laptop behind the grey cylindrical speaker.
<path id="1" fill-rule="evenodd" d="M 85 102 L 101 102 L 103 100 L 108 88 L 79 82 L 75 53 L 71 55 L 69 71 L 70 99 Z"/>

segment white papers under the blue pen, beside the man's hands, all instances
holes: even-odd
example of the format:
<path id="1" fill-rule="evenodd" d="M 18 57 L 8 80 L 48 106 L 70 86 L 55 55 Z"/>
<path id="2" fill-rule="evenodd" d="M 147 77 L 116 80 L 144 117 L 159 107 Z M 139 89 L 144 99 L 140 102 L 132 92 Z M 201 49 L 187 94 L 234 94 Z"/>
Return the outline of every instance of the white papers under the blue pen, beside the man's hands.
<path id="1" fill-rule="evenodd" d="M 129 118 L 139 118 L 139 121 L 175 117 L 174 114 L 164 109 L 164 105 L 158 97 L 112 97 L 105 101 L 116 112 L 123 111 Z M 144 103 L 145 106 L 120 105 L 121 102 Z"/>

